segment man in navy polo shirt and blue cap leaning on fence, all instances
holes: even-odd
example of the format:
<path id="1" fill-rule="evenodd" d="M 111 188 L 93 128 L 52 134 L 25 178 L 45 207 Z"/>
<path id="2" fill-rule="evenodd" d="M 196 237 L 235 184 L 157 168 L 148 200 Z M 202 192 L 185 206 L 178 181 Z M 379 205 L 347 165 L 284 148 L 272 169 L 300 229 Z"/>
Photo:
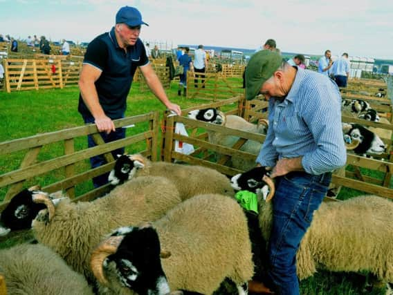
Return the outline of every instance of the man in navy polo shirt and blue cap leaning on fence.
<path id="1" fill-rule="evenodd" d="M 78 111 L 85 123 L 95 123 L 104 142 L 125 137 L 125 129 L 115 129 L 113 120 L 124 117 L 127 95 L 131 88 L 136 68 L 145 76 L 149 88 L 167 109 L 181 115 L 180 106 L 172 104 L 163 86 L 149 64 L 145 46 L 139 39 L 140 26 L 147 25 L 138 9 L 125 6 L 116 14 L 116 25 L 110 32 L 96 37 L 89 43 L 80 73 L 80 97 Z M 95 146 L 91 136 L 89 147 Z M 113 155 L 124 153 L 124 149 L 112 151 Z M 101 166 L 106 161 L 102 155 L 90 159 L 91 167 Z M 94 187 L 107 183 L 108 175 L 93 179 Z"/>

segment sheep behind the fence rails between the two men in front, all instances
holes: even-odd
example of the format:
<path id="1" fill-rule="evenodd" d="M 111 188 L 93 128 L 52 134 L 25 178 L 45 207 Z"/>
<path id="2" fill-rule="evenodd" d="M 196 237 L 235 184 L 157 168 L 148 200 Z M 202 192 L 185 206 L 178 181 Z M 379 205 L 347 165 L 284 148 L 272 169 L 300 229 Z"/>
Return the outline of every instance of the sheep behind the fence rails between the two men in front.
<path id="1" fill-rule="evenodd" d="M 209 122 L 212 124 L 218 124 L 226 126 L 232 129 L 239 129 L 241 131 L 253 132 L 265 134 L 268 129 L 268 121 L 260 120 L 262 124 L 252 124 L 247 122 L 242 117 L 237 115 L 225 115 L 223 112 L 218 111 L 216 108 L 205 108 L 201 110 L 194 110 L 188 113 L 188 117 L 194 120 L 200 120 L 203 122 Z M 238 140 L 239 137 L 233 135 L 223 135 L 215 131 L 208 131 L 208 140 L 214 144 L 220 144 L 223 146 L 232 147 Z M 253 140 L 248 140 L 240 151 L 246 151 L 257 155 L 261 149 L 262 144 Z M 219 158 L 217 158 L 219 160 Z M 244 160 L 239 157 L 232 157 L 230 165 L 236 169 L 248 170 L 255 166 L 255 160 Z"/>

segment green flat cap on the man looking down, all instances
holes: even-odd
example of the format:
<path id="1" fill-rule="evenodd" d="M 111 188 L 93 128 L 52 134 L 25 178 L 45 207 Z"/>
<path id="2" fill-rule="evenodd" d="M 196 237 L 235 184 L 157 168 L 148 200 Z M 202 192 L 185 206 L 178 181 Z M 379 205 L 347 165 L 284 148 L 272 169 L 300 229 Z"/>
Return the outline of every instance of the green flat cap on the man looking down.
<path id="1" fill-rule="evenodd" d="M 273 76 L 282 64 L 282 56 L 271 50 L 261 50 L 255 53 L 246 67 L 246 99 L 255 97 L 261 90 L 262 84 Z"/>

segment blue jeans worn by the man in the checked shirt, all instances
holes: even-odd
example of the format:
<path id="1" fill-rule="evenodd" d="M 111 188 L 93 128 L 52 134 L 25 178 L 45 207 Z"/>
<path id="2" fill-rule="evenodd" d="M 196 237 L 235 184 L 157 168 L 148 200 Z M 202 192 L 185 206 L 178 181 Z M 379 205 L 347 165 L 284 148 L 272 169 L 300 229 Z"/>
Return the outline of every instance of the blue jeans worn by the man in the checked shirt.
<path id="1" fill-rule="evenodd" d="M 331 173 L 291 172 L 277 178 L 268 245 L 268 281 L 276 294 L 298 295 L 296 252 L 331 182 Z"/>

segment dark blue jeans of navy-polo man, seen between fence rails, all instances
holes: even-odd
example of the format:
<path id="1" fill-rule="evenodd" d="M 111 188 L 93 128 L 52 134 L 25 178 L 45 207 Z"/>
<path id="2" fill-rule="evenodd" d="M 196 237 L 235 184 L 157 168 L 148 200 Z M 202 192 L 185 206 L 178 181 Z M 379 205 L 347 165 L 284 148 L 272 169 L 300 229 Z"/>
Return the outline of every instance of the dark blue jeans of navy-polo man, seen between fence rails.
<path id="1" fill-rule="evenodd" d="M 83 120 L 86 124 L 94 123 L 93 117 L 83 117 Z M 100 135 L 102 137 L 102 140 L 104 140 L 104 142 L 114 142 L 115 140 L 121 140 L 122 138 L 125 138 L 125 129 L 117 128 L 115 132 L 112 131 L 109 134 L 105 132 L 101 132 Z M 89 146 L 89 148 L 96 146 L 93 137 L 91 135 L 87 135 L 87 146 Z M 116 155 L 122 155 L 124 151 L 125 149 L 123 147 L 120 149 L 113 150 L 111 151 L 111 153 L 113 155 L 113 158 L 116 159 L 117 158 Z M 92 169 L 98 166 L 102 166 L 103 164 L 106 163 L 107 161 L 105 160 L 104 155 L 95 155 L 90 158 L 90 164 Z M 94 188 L 101 187 L 102 185 L 107 184 L 108 176 L 109 176 L 109 172 L 93 178 Z"/>

